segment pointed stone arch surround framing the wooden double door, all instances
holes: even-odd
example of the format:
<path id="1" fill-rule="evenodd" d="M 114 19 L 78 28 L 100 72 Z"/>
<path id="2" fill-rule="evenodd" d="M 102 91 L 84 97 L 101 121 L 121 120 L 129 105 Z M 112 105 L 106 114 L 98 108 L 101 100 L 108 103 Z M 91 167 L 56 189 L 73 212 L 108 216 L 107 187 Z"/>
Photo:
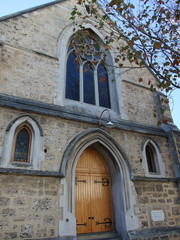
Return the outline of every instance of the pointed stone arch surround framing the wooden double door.
<path id="1" fill-rule="evenodd" d="M 136 196 L 131 181 L 131 167 L 123 149 L 104 130 L 94 128 L 77 135 L 67 147 L 60 172 L 64 174 L 65 195 L 60 197 L 66 219 L 60 221 L 60 229 L 71 229 L 65 235 L 76 235 L 75 219 L 75 171 L 80 155 L 87 147 L 93 147 L 104 158 L 112 179 L 115 230 L 122 239 L 127 239 L 127 231 L 138 228 L 138 218 L 134 214 Z"/>

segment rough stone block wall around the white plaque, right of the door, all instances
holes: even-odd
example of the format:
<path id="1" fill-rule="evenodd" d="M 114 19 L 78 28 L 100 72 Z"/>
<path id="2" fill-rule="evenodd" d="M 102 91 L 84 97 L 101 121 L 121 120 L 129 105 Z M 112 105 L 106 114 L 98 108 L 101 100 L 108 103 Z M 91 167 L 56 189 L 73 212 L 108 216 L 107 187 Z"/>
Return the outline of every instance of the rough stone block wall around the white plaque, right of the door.
<path id="1" fill-rule="evenodd" d="M 180 222 L 180 196 L 177 182 L 135 182 L 141 229 L 176 226 Z M 164 219 L 152 220 L 152 211 L 164 212 Z"/>

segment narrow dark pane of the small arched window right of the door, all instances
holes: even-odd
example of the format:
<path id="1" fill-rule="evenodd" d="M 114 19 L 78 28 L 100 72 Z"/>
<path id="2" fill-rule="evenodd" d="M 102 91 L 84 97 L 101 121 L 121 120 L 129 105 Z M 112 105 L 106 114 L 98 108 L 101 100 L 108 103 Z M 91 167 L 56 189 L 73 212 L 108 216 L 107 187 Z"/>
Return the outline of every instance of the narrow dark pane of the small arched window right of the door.
<path id="1" fill-rule="evenodd" d="M 151 144 L 146 146 L 146 160 L 150 173 L 158 173 L 156 154 Z"/>

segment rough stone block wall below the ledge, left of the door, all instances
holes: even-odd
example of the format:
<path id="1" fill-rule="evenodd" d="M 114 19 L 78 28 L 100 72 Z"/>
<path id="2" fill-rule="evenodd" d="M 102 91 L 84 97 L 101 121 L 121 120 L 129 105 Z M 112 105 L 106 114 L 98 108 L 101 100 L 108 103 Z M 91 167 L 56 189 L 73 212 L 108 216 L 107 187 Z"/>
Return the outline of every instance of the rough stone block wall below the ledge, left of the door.
<path id="1" fill-rule="evenodd" d="M 59 179 L 1 174 L 0 239 L 57 237 L 61 194 Z"/>

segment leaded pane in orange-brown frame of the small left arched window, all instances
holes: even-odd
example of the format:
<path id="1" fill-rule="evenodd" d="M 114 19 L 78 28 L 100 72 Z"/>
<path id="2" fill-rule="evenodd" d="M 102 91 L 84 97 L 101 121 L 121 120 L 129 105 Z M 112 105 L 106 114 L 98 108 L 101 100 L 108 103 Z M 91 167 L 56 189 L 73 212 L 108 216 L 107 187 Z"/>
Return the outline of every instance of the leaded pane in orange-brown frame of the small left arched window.
<path id="1" fill-rule="evenodd" d="M 29 127 L 21 126 L 17 129 L 14 138 L 12 161 L 29 163 L 31 152 L 32 133 Z"/>

